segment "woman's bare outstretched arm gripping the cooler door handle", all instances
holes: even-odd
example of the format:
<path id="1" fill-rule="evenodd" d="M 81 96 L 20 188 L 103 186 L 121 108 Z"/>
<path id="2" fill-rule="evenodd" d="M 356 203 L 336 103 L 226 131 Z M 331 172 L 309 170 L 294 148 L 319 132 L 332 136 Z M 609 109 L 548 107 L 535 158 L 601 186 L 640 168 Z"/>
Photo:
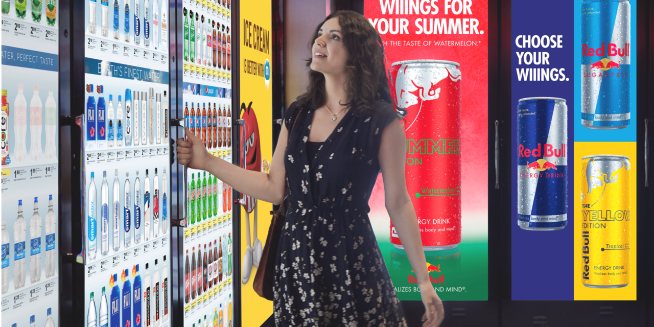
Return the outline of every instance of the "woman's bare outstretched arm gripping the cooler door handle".
<path id="1" fill-rule="evenodd" d="M 284 152 L 288 139 L 286 126 L 282 125 L 277 148 L 270 163 L 269 173 L 243 169 L 231 162 L 211 156 L 201 139 L 193 135 L 186 128 L 188 140 L 177 139 L 177 162 L 188 165 L 193 169 L 209 171 L 247 196 L 273 203 L 281 203 L 284 199 L 284 183 L 286 183 L 286 169 L 284 169 Z"/>

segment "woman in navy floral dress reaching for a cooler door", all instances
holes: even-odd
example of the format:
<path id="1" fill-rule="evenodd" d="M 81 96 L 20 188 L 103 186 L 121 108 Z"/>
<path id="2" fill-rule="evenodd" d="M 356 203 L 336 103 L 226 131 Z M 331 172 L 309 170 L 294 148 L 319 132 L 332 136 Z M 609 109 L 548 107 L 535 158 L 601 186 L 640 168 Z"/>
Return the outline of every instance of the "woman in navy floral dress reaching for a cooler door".
<path id="1" fill-rule="evenodd" d="M 269 173 L 209 156 L 188 130 L 188 141 L 177 140 L 179 163 L 209 171 L 253 198 L 279 204 L 288 182 L 275 261 L 277 326 L 406 326 L 368 219 L 380 170 L 388 214 L 419 281 L 423 326 L 443 320 L 407 193 L 404 128 L 391 104 L 377 37 L 352 11 L 334 12 L 317 27 L 309 87 L 286 110 Z"/>

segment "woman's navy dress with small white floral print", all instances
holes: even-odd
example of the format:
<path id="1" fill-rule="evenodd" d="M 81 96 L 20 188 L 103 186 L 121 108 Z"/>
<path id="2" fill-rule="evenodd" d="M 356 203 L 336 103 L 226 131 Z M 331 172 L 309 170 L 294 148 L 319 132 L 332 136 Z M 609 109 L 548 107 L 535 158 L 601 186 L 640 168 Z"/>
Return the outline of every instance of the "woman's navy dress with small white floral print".
<path id="1" fill-rule="evenodd" d="M 277 326 L 406 326 L 368 219 L 381 134 L 398 118 L 388 103 L 375 110 L 347 112 L 313 158 L 313 110 L 286 111 L 287 129 L 300 116 L 284 154 L 290 205 L 275 260 Z"/>

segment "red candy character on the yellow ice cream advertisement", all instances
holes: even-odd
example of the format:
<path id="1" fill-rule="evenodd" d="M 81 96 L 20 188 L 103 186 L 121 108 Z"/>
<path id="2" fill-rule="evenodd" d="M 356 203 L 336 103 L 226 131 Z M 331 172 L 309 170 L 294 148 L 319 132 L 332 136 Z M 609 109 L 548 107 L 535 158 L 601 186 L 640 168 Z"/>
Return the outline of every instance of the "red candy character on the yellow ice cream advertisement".
<path id="1" fill-rule="evenodd" d="M 239 166 L 252 171 L 262 171 L 259 124 L 256 120 L 254 109 L 252 108 L 252 102 L 250 102 L 247 107 L 245 107 L 245 103 L 241 103 L 241 119 L 243 119 L 244 124 L 241 133 L 242 153 L 239 156 Z M 245 209 L 247 248 L 245 249 L 245 256 L 243 257 L 243 284 L 246 284 L 250 279 L 252 265 L 255 267 L 259 266 L 259 260 L 261 260 L 261 254 L 263 252 L 263 245 L 256 237 L 256 199 L 244 195 L 240 203 L 243 205 L 243 209 Z M 250 246 L 250 213 L 252 212 L 254 212 L 254 243 Z"/>

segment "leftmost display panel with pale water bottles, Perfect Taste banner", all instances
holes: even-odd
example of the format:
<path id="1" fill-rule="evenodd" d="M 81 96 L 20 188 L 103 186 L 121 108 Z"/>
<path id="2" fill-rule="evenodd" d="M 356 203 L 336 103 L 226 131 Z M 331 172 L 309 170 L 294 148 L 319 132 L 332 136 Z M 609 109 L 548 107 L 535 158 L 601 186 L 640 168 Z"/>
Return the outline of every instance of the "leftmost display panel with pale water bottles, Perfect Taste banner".
<path id="1" fill-rule="evenodd" d="M 2 3 L 2 326 L 59 324 L 56 1 Z"/>

